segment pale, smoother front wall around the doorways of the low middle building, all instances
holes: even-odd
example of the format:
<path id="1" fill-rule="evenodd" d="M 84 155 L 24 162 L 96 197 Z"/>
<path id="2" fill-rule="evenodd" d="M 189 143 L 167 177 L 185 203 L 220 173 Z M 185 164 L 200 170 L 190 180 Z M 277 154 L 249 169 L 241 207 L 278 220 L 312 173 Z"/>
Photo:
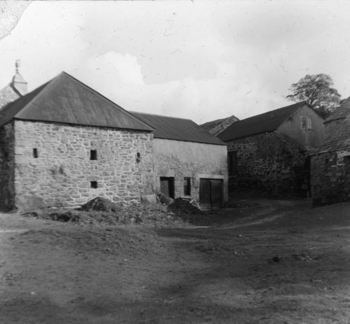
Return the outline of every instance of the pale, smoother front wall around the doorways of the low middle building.
<path id="1" fill-rule="evenodd" d="M 200 199 L 200 178 L 222 178 L 223 199 L 228 201 L 228 153 L 224 145 L 154 139 L 156 190 L 160 176 L 174 177 L 174 195 L 182 197 L 183 178 L 190 178 L 191 196 Z"/>

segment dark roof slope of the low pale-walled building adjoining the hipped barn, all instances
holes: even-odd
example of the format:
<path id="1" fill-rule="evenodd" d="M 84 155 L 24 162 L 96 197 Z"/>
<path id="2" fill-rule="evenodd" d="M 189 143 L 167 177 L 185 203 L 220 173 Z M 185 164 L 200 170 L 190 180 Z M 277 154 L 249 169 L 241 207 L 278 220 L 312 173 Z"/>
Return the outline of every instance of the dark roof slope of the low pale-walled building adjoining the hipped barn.
<path id="1" fill-rule="evenodd" d="M 225 145 L 220 139 L 209 134 L 192 120 L 149 113 L 133 113 L 155 128 L 155 139 L 174 139 L 176 141 Z"/>

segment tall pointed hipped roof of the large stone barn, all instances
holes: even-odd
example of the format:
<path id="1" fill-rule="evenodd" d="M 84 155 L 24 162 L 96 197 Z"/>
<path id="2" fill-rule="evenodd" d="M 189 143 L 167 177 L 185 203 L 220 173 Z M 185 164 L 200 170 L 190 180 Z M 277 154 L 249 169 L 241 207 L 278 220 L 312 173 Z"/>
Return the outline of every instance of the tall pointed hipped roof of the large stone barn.
<path id="1" fill-rule="evenodd" d="M 0 113 L 0 126 L 13 118 L 148 132 L 153 130 L 132 113 L 65 72 L 5 106 Z"/>

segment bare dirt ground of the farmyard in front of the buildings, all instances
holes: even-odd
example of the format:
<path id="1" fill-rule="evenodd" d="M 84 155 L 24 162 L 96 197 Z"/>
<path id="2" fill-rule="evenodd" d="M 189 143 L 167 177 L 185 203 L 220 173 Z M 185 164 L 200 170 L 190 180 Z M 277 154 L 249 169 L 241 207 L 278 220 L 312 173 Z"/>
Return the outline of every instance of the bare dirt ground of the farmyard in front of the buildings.
<path id="1" fill-rule="evenodd" d="M 0 323 L 350 323 L 350 204 L 240 201 L 187 227 L 0 214 Z"/>

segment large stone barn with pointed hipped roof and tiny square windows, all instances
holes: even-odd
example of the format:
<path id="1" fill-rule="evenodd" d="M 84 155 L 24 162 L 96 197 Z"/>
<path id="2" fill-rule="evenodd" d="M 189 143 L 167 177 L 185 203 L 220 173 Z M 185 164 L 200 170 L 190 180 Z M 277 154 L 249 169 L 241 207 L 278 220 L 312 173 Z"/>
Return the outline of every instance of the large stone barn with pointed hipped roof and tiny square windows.
<path id="1" fill-rule="evenodd" d="M 154 195 L 153 127 L 62 72 L 0 110 L 0 207 Z"/>

